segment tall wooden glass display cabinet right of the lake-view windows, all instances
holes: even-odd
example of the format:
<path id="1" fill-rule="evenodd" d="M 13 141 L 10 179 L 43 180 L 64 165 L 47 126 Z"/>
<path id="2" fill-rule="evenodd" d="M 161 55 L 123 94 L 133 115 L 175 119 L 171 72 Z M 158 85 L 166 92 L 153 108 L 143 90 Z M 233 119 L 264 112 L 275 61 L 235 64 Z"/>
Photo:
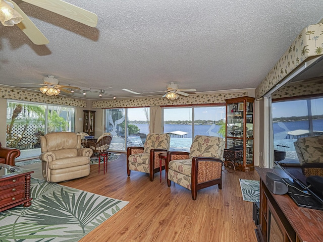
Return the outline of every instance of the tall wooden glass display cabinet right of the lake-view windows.
<path id="1" fill-rule="evenodd" d="M 254 170 L 253 164 L 253 97 L 226 100 L 226 149 L 224 158 L 240 171 Z"/>

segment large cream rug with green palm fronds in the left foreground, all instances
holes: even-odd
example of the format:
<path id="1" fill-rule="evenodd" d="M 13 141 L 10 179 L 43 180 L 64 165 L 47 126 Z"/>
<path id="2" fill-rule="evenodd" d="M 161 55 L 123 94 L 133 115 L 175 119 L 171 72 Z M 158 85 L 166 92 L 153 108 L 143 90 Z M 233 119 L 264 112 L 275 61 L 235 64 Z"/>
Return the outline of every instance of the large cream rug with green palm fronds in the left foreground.
<path id="1" fill-rule="evenodd" d="M 78 241 L 128 202 L 31 178 L 32 205 L 0 212 L 0 241 Z"/>

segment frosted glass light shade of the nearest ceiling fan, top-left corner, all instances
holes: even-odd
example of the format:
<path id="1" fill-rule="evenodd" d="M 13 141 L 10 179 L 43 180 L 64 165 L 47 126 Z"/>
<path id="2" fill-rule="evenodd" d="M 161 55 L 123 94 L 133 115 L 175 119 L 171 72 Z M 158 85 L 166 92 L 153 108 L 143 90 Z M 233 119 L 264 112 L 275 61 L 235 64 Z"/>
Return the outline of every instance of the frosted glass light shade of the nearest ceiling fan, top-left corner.
<path id="1" fill-rule="evenodd" d="M 4 26 L 13 26 L 19 24 L 23 20 L 23 17 L 9 6 L 5 1 L 0 0 L 0 22 Z"/>

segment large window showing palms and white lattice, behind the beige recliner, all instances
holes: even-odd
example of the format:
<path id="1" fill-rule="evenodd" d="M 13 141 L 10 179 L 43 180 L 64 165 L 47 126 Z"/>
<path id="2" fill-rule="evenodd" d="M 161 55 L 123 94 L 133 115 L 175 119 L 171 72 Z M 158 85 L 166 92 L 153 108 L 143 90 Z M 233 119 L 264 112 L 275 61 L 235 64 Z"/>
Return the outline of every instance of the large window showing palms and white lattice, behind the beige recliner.
<path id="1" fill-rule="evenodd" d="M 40 155 L 39 137 L 51 132 L 74 132 L 75 108 L 8 100 L 7 147 L 17 148 L 19 159 Z"/>

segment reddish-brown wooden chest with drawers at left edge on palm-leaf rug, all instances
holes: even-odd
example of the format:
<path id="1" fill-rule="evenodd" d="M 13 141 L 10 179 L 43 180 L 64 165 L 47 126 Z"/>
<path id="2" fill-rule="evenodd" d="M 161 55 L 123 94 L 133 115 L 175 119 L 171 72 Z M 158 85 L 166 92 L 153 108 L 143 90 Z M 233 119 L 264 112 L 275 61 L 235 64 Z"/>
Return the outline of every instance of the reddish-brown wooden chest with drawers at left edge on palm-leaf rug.
<path id="1" fill-rule="evenodd" d="M 9 169 L 13 168 L 14 171 Z M 30 178 L 33 171 L 6 164 L 0 165 L 0 212 L 23 204 L 31 205 Z"/>

